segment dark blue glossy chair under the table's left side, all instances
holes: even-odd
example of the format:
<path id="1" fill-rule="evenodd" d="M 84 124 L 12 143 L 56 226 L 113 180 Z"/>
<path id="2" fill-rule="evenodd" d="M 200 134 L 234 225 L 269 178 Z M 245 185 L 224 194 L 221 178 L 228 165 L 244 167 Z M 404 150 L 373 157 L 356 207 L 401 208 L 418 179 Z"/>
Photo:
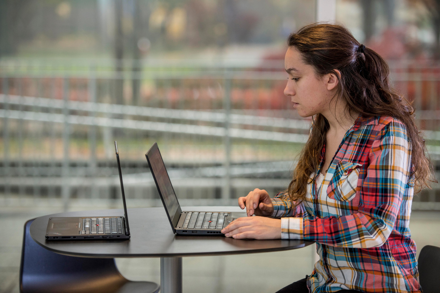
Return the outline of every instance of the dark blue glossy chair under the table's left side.
<path id="1" fill-rule="evenodd" d="M 157 293 L 154 282 L 134 282 L 117 270 L 114 258 L 71 257 L 37 244 L 29 234 L 34 219 L 24 226 L 20 263 L 20 292 Z"/>

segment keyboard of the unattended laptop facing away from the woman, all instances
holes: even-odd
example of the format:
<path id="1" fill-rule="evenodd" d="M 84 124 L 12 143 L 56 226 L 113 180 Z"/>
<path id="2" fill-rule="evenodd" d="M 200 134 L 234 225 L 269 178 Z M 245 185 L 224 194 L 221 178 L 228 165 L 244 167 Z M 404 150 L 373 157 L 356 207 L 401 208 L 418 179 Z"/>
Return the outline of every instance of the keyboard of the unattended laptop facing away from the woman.
<path id="1" fill-rule="evenodd" d="M 80 234 L 122 234 L 122 219 L 115 218 L 84 218 Z"/>

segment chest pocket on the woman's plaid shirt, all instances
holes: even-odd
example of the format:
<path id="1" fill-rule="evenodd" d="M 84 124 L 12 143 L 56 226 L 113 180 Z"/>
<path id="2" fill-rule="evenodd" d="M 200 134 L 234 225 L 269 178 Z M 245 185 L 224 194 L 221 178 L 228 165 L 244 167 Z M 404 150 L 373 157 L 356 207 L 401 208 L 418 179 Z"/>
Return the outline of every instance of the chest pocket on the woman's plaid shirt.
<path id="1" fill-rule="evenodd" d="M 356 196 L 359 167 L 362 164 L 339 162 L 327 188 L 327 195 L 333 200 L 350 201 Z"/>

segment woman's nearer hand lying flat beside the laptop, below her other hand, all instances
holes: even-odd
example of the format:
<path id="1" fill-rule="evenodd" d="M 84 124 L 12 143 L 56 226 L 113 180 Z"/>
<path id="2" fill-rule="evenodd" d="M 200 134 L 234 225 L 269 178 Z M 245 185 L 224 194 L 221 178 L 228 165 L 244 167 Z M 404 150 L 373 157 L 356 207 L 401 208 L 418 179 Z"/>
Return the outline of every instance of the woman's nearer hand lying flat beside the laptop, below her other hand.
<path id="1" fill-rule="evenodd" d="M 281 219 L 266 217 L 238 218 L 221 230 L 226 237 L 237 239 L 280 239 Z"/>

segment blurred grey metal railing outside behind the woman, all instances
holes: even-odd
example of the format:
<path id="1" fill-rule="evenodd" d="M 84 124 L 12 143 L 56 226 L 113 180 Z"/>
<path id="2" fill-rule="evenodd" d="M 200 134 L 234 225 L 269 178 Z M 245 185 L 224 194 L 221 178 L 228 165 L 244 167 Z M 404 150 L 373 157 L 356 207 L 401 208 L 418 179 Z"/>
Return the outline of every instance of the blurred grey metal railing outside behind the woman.
<path id="1" fill-rule="evenodd" d="M 276 193 L 290 182 L 310 120 L 291 110 L 282 96 L 284 75 L 269 65 L 201 70 L 150 64 L 132 75 L 102 64 L 61 74 L 56 64 L 0 62 L 0 195 L 60 198 L 65 207 L 74 198 L 118 198 L 114 139 L 128 197 L 158 203 L 143 158 L 154 141 L 178 197 L 189 204 L 235 203 L 255 187 Z M 178 72 L 182 68 L 189 69 Z M 115 80 L 123 81 L 125 104 L 115 104 Z M 136 106 L 128 105 L 132 80 L 141 84 Z M 430 155 L 438 159 L 440 78 L 399 73 L 392 80 L 412 95 Z M 424 190 L 413 207 L 440 209 L 439 190 Z"/>

